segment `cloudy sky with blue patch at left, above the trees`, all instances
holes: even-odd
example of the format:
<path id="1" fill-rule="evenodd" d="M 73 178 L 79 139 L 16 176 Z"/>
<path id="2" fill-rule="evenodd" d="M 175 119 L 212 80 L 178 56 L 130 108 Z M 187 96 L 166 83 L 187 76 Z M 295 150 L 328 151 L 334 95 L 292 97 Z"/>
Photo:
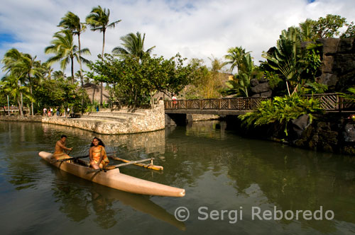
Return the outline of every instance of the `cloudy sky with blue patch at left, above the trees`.
<path id="1" fill-rule="evenodd" d="M 146 49 L 155 46 L 153 55 L 169 59 L 179 52 L 187 59 L 204 59 L 207 66 L 209 58 L 223 60 L 230 47 L 240 46 L 259 64 L 262 52 L 275 46 L 282 30 L 307 18 L 330 13 L 355 21 L 354 0 L 1 0 L 1 59 L 16 48 L 45 62 L 53 55 L 45 55 L 44 49 L 60 30 L 57 25 L 65 13 L 72 11 L 84 22 L 95 6 L 109 8 L 110 22 L 121 20 L 107 30 L 105 52 L 120 46 L 122 36 L 140 32 L 146 33 Z M 81 42 L 92 53 L 86 58 L 97 59 L 102 33 L 88 28 Z M 53 68 L 59 69 L 59 64 Z"/>

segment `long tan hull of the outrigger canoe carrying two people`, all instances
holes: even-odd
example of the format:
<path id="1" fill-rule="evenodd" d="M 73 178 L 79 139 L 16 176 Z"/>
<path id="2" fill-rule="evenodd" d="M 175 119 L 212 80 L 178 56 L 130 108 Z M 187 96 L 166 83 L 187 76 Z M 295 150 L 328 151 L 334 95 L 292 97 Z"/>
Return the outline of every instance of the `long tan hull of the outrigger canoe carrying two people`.
<path id="1" fill-rule="evenodd" d="M 51 161 L 53 154 L 45 151 L 40 151 L 38 154 L 42 159 L 48 161 L 53 166 L 60 168 L 62 171 L 67 171 L 75 176 L 90 180 L 100 185 L 105 185 L 109 188 L 115 188 L 129 193 L 137 193 L 144 195 L 157 195 L 167 197 L 183 197 L 185 189 L 175 188 L 160 183 L 154 183 L 148 180 L 143 180 L 133 176 L 125 175 L 119 172 L 119 168 L 109 171 L 99 171 L 96 173 L 87 173 L 92 168 L 83 166 L 82 164 L 72 163 L 67 161 L 53 162 Z M 84 161 L 79 161 L 84 162 Z"/>

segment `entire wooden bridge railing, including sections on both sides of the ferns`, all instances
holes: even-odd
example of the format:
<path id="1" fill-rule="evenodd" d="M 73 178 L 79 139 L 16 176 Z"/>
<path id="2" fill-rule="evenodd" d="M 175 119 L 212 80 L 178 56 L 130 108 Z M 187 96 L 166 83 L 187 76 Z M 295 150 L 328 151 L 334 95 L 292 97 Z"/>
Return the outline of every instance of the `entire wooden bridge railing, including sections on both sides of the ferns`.
<path id="1" fill-rule="evenodd" d="M 327 111 L 355 111 L 354 101 L 349 101 L 338 93 L 322 93 L 314 95 L 305 95 L 320 99 L 321 106 Z M 219 99 L 195 99 L 195 100 L 177 100 L 165 101 L 165 109 L 185 109 L 185 110 L 255 110 L 261 101 L 271 98 L 219 98 Z"/>

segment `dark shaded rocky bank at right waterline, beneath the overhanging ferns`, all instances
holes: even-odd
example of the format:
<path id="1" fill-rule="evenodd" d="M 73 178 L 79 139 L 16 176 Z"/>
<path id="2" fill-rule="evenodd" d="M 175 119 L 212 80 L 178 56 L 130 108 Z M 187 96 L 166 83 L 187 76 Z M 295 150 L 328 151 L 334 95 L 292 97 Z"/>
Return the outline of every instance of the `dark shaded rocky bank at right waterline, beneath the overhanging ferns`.
<path id="1" fill-rule="evenodd" d="M 316 115 L 310 122 L 308 115 L 301 115 L 285 125 L 271 123 L 258 127 L 243 125 L 239 117 L 226 116 L 227 129 L 236 130 L 244 137 L 283 142 L 293 147 L 327 151 L 355 156 L 355 122 L 349 114 L 327 113 Z"/>

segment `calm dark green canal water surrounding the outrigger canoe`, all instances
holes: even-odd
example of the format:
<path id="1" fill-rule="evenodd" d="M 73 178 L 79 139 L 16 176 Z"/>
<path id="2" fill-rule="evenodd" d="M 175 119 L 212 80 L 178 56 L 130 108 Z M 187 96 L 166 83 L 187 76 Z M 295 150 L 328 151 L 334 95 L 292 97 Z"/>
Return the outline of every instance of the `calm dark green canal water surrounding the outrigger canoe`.
<path id="1" fill-rule="evenodd" d="M 0 122 L 1 234 L 355 234 L 354 158 L 245 139 L 225 126 L 109 136 Z M 121 158 L 153 156 L 163 172 L 121 172 L 186 195 L 134 195 L 60 171 L 38 152 L 53 152 L 61 134 L 72 156 L 86 155 L 95 136 Z"/>

